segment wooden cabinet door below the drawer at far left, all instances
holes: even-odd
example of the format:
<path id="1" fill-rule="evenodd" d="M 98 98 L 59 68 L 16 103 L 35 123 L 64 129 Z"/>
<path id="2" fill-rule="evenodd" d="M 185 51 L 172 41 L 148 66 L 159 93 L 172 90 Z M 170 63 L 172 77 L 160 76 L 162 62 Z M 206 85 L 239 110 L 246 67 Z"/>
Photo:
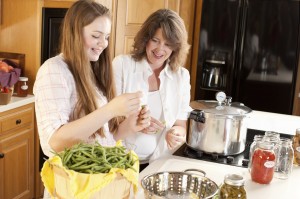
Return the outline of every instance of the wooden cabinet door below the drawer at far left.
<path id="1" fill-rule="evenodd" d="M 33 198 L 33 130 L 1 138 L 0 198 Z"/>

